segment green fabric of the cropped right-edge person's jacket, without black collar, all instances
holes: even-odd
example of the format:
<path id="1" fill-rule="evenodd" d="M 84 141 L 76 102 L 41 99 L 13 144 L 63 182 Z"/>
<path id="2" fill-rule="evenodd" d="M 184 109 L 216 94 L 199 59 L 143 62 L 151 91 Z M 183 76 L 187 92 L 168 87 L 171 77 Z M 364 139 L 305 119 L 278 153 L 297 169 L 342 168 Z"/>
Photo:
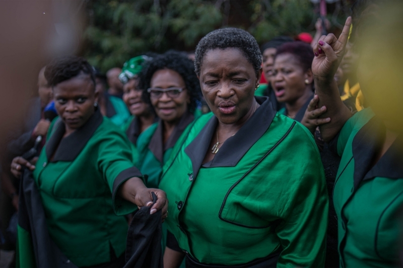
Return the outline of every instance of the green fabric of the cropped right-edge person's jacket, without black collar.
<path id="1" fill-rule="evenodd" d="M 343 126 L 338 138 L 342 160 L 333 202 L 339 221 L 342 267 L 395 267 L 398 263 L 401 222 L 397 215 L 403 204 L 403 180 L 377 176 L 361 182 L 353 194 L 353 139 L 374 116 L 370 108 L 356 113 Z"/>

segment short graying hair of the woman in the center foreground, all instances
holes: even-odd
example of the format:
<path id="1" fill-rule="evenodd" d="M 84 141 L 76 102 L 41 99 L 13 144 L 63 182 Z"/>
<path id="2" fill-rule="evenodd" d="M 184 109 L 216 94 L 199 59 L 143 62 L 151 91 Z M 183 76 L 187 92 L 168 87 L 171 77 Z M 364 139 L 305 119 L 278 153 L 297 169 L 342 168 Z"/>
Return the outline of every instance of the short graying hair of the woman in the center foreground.
<path id="1" fill-rule="evenodd" d="M 256 39 L 248 32 L 238 28 L 224 28 L 208 33 L 198 42 L 195 57 L 194 69 L 200 75 L 200 67 L 207 51 L 211 49 L 238 48 L 253 65 L 256 75 L 259 73 L 262 56 Z"/>

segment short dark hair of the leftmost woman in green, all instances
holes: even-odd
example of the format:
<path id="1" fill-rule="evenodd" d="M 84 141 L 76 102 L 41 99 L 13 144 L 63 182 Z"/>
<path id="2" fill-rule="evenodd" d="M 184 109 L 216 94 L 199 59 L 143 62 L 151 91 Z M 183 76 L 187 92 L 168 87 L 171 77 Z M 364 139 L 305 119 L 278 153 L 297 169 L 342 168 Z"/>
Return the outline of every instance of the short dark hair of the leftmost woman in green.
<path id="1" fill-rule="evenodd" d="M 77 56 L 64 56 L 52 60 L 45 69 L 45 78 L 50 86 L 76 77 L 80 73 L 88 74 L 94 83 L 95 76 L 93 67 L 84 58 Z"/>

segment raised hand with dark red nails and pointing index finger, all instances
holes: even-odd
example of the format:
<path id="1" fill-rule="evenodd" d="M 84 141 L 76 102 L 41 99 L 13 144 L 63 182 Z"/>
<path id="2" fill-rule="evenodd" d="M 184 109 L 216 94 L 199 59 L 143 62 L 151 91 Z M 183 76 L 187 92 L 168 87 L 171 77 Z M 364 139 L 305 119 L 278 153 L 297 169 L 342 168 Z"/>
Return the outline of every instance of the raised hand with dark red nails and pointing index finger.
<path id="1" fill-rule="evenodd" d="M 332 80 L 342 61 L 349 37 L 351 17 L 348 17 L 339 39 L 333 34 L 323 35 L 313 46 L 315 57 L 312 72 L 316 79 Z"/>

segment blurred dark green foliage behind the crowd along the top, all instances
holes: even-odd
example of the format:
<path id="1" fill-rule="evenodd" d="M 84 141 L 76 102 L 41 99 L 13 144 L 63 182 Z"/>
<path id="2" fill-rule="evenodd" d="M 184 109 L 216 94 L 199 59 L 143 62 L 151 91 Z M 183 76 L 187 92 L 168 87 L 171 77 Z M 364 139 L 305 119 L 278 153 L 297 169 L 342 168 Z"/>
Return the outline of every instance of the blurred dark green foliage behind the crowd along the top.
<path id="1" fill-rule="evenodd" d="M 351 1 L 330 2 L 327 19 L 337 33 Z M 80 54 L 105 72 L 147 52 L 194 51 L 200 38 L 223 27 L 247 30 L 259 45 L 278 35 L 314 35 L 319 7 L 310 0 L 86 0 L 86 12 Z"/>

